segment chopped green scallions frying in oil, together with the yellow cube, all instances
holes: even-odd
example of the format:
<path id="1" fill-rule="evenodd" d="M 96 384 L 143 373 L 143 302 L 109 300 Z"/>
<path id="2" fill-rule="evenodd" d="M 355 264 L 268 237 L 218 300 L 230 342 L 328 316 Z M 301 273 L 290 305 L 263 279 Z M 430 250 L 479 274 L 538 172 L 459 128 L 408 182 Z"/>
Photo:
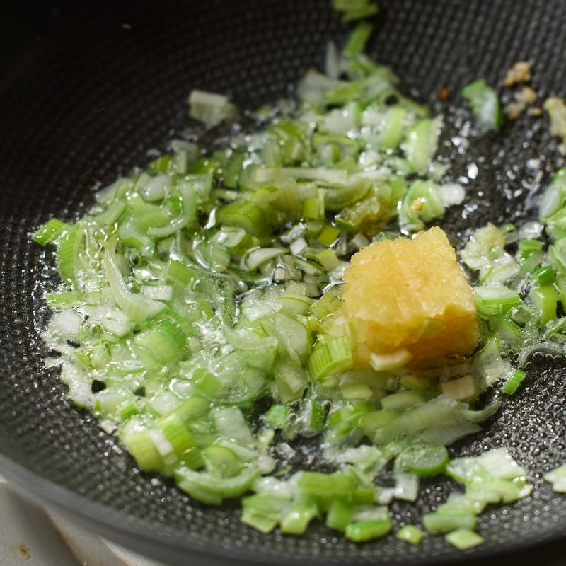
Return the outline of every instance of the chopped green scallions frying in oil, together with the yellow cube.
<path id="1" fill-rule="evenodd" d="M 347 19 L 376 9 L 336 4 Z M 391 530 L 386 504 L 446 472 L 466 492 L 422 524 L 468 548 L 487 504 L 531 487 L 504 450 L 449 461 L 444 446 L 497 410 L 475 407 L 482 391 L 505 378 L 514 393 L 531 352 L 563 350 L 566 175 L 542 224 L 471 238 L 472 293 L 440 229 L 411 239 L 464 197 L 434 161 L 442 118 L 362 54 L 368 36 L 362 23 L 331 45 L 325 74 L 306 74 L 296 107 L 260 109 L 254 133 L 173 141 L 81 219 L 41 226 L 62 279 L 43 337 L 76 405 L 200 502 L 245 496 L 242 521 L 262 532 L 320 519 L 362 542 Z M 464 96 L 499 126 L 485 83 Z M 236 116 L 224 96 L 190 103 L 209 125 Z M 333 473 L 296 465 L 310 437 Z"/>

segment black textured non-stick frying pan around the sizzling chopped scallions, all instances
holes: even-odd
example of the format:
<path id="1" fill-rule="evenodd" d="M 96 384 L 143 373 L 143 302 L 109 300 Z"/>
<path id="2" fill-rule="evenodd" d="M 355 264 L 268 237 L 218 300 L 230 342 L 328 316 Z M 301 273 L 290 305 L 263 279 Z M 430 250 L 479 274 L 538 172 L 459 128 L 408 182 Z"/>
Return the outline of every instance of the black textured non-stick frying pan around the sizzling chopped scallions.
<path id="1" fill-rule="evenodd" d="M 404 88 L 452 116 L 457 93 L 485 76 L 501 85 L 519 59 L 533 65 L 539 96 L 566 93 L 563 0 L 381 0 L 371 56 Z M 0 471 L 32 497 L 124 545 L 174 565 L 410 564 L 485 558 L 565 536 L 566 497 L 543 473 L 565 456 L 566 362 L 539 357 L 521 392 L 504 400 L 485 432 L 454 455 L 507 446 L 529 472 L 533 495 L 485 513 L 485 544 L 459 553 L 442 538 L 412 547 L 393 536 L 354 545 L 320 525 L 301 538 L 264 536 L 238 507 L 202 507 L 168 480 L 139 473 L 88 412 L 65 398 L 43 366 L 42 250 L 29 233 L 56 215 L 74 219 L 93 191 L 165 149 L 189 127 L 192 88 L 229 93 L 242 108 L 292 94 L 326 42 L 347 28 L 328 0 L 132 0 L 85 4 L 14 64 L 0 93 Z M 452 93 L 435 102 L 440 87 Z M 499 87 L 498 87 L 499 88 Z M 560 165 L 545 119 L 523 117 L 502 134 L 473 137 L 466 154 L 449 133 L 441 154 L 456 175 L 478 178 L 468 204 L 444 219 L 461 246 L 470 226 L 524 219 L 531 193 Z M 185 132 L 186 133 L 186 132 Z M 464 220 L 462 216 L 466 216 Z M 48 274 L 47 274 L 48 275 Z M 49 284 L 49 283 L 47 283 Z M 417 504 L 395 503 L 395 526 L 418 521 L 458 487 L 424 483 Z M 566 538 L 563 538 L 566 546 Z M 554 543 L 553 548 L 560 548 Z M 548 548 L 548 547 L 547 547 Z M 531 553 L 531 559 L 533 553 Z M 529 557 L 529 554 L 519 554 Z"/>

